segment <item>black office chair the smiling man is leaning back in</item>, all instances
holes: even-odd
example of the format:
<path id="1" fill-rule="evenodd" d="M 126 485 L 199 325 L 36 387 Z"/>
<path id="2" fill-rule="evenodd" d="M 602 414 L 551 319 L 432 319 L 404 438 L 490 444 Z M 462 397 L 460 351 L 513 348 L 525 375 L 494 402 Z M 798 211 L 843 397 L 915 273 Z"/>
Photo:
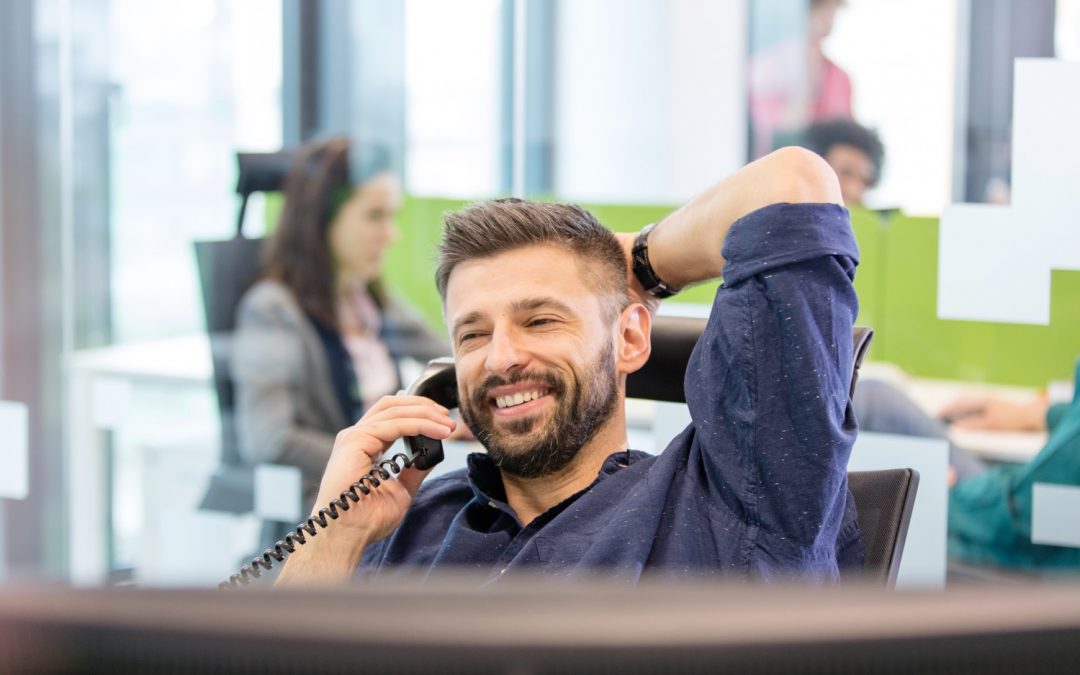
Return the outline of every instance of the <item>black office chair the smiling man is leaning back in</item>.
<path id="1" fill-rule="evenodd" d="M 626 395 L 686 403 L 683 374 L 704 329 L 704 319 L 657 316 L 652 324 L 652 354 L 642 369 L 626 378 Z M 854 357 L 849 396 L 855 391 L 859 367 L 874 339 L 874 329 L 855 326 L 851 333 Z M 843 578 L 889 588 L 895 584 L 918 485 L 919 474 L 913 469 L 848 473 L 866 556 L 861 570 L 842 570 Z"/>

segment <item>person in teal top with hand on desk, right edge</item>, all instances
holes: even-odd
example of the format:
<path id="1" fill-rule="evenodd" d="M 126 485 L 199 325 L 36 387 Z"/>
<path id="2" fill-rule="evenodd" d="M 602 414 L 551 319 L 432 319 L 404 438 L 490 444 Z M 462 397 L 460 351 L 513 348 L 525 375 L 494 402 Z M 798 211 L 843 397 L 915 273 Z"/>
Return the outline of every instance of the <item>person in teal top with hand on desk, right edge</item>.
<path id="1" fill-rule="evenodd" d="M 1080 363 L 1071 403 L 1045 407 L 1045 446 L 1023 464 L 998 464 L 961 481 L 949 491 L 948 553 L 975 565 L 1023 570 L 1080 569 L 1080 549 L 1031 543 L 1031 494 L 1036 483 L 1080 486 Z M 1016 406 L 996 400 L 962 402 L 946 415 L 970 428 L 1041 426 L 1039 404 Z M 970 411 L 975 411 L 974 415 Z"/>

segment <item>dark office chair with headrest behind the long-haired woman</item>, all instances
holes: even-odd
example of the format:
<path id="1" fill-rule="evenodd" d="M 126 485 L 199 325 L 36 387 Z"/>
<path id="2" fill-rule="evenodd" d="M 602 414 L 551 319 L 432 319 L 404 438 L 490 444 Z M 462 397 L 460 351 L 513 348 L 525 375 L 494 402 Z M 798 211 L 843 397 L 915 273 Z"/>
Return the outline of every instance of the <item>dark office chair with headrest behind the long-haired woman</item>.
<path id="1" fill-rule="evenodd" d="M 235 233 L 232 239 L 224 241 L 194 242 L 194 251 L 221 426 L 221 463 L 211 476 L 200 509 L 240 514 L 254 509 L 255 468 L 240 454 L 229 359 L 237 307 L 240 298 L 258 278 L 259 254 L 262 248 L 261 239 L 244 237 L 244 214 L 252 193 L 281 189 L 293 163 L 293 153 L 239 152 L 237 161 L 240 168 L 237 192 L 241 202 Z"/>

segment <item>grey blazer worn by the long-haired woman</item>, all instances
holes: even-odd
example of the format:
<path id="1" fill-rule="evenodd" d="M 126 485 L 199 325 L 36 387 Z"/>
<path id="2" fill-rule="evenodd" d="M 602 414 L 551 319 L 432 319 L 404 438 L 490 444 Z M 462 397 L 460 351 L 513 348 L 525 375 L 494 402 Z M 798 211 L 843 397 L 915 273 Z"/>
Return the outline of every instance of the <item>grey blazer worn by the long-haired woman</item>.
<path id="1" fill-rule="evenodd" d="M 450 353 L 399 302 L 390 302 L 382 320 L 392 326 L 392 354 L 426 362 Z M 356 421 L 346 419 L 329 367 L 314 325 L 285 285 L 260 281 L 244 294 L 230 363 L 240 450 L 252 462 L 299 468 L 306 503 L 318 491 L 335 435 Z"/>

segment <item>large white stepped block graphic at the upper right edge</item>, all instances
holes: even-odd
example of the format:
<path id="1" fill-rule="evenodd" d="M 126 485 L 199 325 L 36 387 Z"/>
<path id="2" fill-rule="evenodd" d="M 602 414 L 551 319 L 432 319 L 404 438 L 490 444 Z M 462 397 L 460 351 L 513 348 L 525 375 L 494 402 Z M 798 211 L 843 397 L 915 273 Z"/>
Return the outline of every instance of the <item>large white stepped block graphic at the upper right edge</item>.
<path id="1" fill-rule="evenodd" d="M 942 213 L 942 319 L 1049 324 L 1050 270 L 1080 270 L 1080 63 L 1018 58 L 1015 76 L 1012 203 Z"/>

